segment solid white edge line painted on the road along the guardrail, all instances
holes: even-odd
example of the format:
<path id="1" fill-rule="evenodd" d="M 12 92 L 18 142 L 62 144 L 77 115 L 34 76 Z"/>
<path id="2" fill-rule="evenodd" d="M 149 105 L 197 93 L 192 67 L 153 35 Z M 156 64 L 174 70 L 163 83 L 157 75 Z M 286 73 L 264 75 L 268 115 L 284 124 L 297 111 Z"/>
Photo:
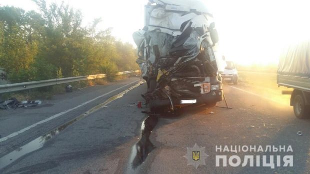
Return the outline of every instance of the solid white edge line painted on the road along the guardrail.
<path id="1" fill-rule="evenodd" d="M 35 126 L 37 126 L 37 125 L 39 125 L 39 124 L 46 123 L 46 122 L 48 122 L 48 121 L 50 121 L 50 120 L 52 120 L 52 119 L 55 119 L 55 118 L 57 118 L 57 117 L 60 117 L 60 116 L 62 116 L 63 114 L 66 114 L 66 113 L 68 113 L 68 112 L 70 112 L 70 111 L 72 111 L 72 110 L 74 110 L 74 109 L 77 109 L 77 108 L 79 108 L 79 107 L 81 107 L 81 106 L 84 106 L 84 105 L 86 105 L 86 104 L 88 104 L 88 103 L 90 103 L 90 102 L 93 102 L 94 100 L 96 100 L 96 99 L 98 99 L 98 98 L 104 97 L 104 96 L 106 96 L 106 95 L 108 95 L 108 94 L 110 94 L 110 93 L 112 93 L 112 92 L 115 92 L 115 91 L 117 91 L 117 90 L 119 90 L 119 89 L 121 89 L 121 88 L 123 88 L 123 87 L 129 86 L 129 85 L 131 85 L 131 84 L 133 84 L 133 83 L 136 83 L 136 82 L 138 82 L 138 81 L 140 81 L 140 80 L 136 80 L 136 81 L 134 81 L 134 82 L 131 82 L 131 83 L 129 83 L 129 84 L 126 84 L 126 85 L 124 85 L 124 86 L 121 86 L 121 87 L 119 87 L 119 88 L 116 88 L 116 89 L 114 89 L 114 90 L 112 90 L 112 91 L 110 91 L 110 92 L 107 92 L 107 93 L 102 94 L 102 95 L 100 95 L 100 96 L 98 96 L 98 97 L 96 97 L 96 98 L 93 98 L 93 99 L 88 100 L 88 101 L 86 101 L 86 102 L 84 102 L 84 103 L 82 103 L 82 104 L 79 104 L 79 105 L 77 105 L 77 106 L 74 107 L 74 108 L 68 109 L 68 110 L 66 110 L 66 111 L 60 112 L 60 113 L 58 113 L 58 114 L 55 114 L 55 115 L 53 115 L 53 116 L 51 116 L 51 117 L 49 117 L 49 118 L 47 118 L 47 119 L 41 120 L 41 121 L 39 121 L 39 122 L 37 122 L 37 123 L 34 123 L 33 125 L 30 125 L 30 126 L 28 126 L 28 127 L 26 127 L 26 128 L 23 128 L 23 129 L 21 129 L 21 130 L 19 130 L 19 131 L 17 131 L 17 132 L 12 133 L 12 134 L 10 134 L 10 135 L 8 135 L 8 136 L 6 136 L 6 137 L 1 138 L 1 139 L 0 139 L 0 142 L 4 142 L 4 141 L 6 141 L 7 139 L 12 138 L 12 137 L 15 137 L 15 136 L 17 136 L 18 134 L 21 134 L 21 133 L 23 133 L 23 132 L 25 132 L 25 131 L 27 131 L 27 130 L 29 130 L 29 129 L 31 129 L 31 128 L 34 128 Z"/>

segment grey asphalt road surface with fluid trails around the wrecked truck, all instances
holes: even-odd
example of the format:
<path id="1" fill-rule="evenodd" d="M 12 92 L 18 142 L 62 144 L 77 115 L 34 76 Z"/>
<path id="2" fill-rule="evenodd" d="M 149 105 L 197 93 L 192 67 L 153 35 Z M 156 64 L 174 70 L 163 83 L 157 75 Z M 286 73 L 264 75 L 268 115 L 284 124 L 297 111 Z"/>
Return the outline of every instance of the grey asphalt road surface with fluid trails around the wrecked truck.
<path id="1" fill-rule="evenodd" d="M 151 118 L 144 126 L 142 122 L 149 115 L 141 111 L 147 108 L 137 108 L 137 102 L 143 102 L 140 94 L 146 87 L 138 80 L 130 78 L 57 95 L 38 107 L 0 110 L 0 173 L 310 173 L 310 120 L 294 117 L 287 96 L 268 94 L 257 86 L 225 84 L 225 97 L 232 109 L 185 107 L 174 116 Z M 225 105 L 220 102 L 217 106 Z M 154 128 L 150 142 L 146 141 L 148 149 L 142 146 L 146 153 L 136 154 L 135 144 L 145 142 L 141 128 L 147 131 L 149 126 Z M 303 134 L 297 135 L 298 131 Z M 184 157 L 186 148 L 195 144 L 205 147 L 208 155 L 205 165 L 197 169 L 187 165 Z M 291 146 L 293 152 L 216 152 L 216 146 L 235 145 L 262 146 L 263 150 L 268 145 Z M 293 166 L 216 167 L 218 155 L 237 155 L 241 161 L 245 155 L 292 155 Z M 139 164 L 136 159 L 144 161 Z"/>

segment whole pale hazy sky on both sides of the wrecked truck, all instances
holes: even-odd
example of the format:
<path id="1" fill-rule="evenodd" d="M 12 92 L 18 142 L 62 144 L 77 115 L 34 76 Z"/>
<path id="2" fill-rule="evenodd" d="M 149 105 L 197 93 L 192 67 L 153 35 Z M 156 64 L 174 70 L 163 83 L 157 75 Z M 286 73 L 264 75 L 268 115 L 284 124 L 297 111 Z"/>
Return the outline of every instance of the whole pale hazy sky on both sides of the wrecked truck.
<path id="1" fill-rule="evenodd" d="M 46 0 L 47 3 L 62 0 Z M 134 43 L 132 32 L 144 23 L 147 0 L 63 0 L 83 13 L 84 24 L 101 17 L 99 29 L 112 27 L 117 38 Z M 308 0 L 205 0 L 211 6 L 223 54 L 241 64 L 276 63 L 288 43 L 310 38 Z M 31 0 L 0 0 L 25 10 L 36 9 Z"/>

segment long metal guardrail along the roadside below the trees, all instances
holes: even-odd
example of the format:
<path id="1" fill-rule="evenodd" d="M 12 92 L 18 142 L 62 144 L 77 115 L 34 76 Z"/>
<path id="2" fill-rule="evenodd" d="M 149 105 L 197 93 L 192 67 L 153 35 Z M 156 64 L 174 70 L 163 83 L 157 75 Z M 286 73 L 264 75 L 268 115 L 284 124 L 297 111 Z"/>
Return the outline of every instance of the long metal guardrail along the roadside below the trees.
<path id="1" fill-rule="evenodd" d="M 137 71 L 118 72 L 116 73 L 116 75 L 130 74 L 134 72 L 137 72 Z M 104 77 L 106 77 L 106 74 L 95 74 L 95 75 L 87 75 L 87 76 L 67 77 L 67 78 L 59 78 L 59 79 L 6 84 L 6 85 L 0 85 L 0 94 L 7 93 L 7 92 L 15 92 L 15 91 L 39 88 L 39 87 L 44 87 L 44 86 L 52 86 L 52 85 L 58 85 L 58 84 L 64 84 L 64 83 L 77 82 L 77 81 L 82 81 L 82 80 L 104 78 Z"/>

